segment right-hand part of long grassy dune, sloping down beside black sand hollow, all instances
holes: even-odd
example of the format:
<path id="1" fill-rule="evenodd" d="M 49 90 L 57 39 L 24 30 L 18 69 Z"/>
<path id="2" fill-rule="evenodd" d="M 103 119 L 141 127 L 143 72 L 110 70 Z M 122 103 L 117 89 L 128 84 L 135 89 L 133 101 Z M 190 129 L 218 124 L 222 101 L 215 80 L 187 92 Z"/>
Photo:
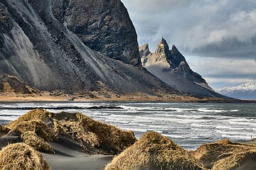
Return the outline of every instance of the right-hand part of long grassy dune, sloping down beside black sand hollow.
<path id="1" fill-rule="evenodd" d="M 68 120 L 63 120 L 62 114 Z M 82 113 L 68 114 L 72 113 L 53 115 L 55 131 L 77 140 L 84 149 L 90 145 L 98 149 L 100 154 L 119 154 L 137 141 L 132 131 L 100 123 Z"/>

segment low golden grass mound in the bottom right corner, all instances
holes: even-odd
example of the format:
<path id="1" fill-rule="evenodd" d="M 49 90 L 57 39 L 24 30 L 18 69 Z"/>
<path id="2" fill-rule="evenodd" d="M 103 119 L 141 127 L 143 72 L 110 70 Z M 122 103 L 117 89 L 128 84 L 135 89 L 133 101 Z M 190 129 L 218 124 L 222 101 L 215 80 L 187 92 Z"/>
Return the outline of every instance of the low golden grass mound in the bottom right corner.
<path id="1" fill-rule="evenodd" d="M 233 143 L 230 140 L 205 144 L 193 152 L 198 161 L 213 170 L 231 169 L 250 154 L 256 154 L 255 146 Z"/>

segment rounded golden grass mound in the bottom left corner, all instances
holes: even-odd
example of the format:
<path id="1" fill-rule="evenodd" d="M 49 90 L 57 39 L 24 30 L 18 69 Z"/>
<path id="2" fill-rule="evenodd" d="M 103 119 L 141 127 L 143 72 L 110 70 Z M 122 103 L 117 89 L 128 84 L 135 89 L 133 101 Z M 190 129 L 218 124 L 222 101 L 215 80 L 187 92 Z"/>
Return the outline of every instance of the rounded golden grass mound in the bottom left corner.
<path id="1" fill-rule="evenodd" d="M 50 166 L 33 147 L 16 143 L 1 149 L 0 169 L 50 170 Z"/>

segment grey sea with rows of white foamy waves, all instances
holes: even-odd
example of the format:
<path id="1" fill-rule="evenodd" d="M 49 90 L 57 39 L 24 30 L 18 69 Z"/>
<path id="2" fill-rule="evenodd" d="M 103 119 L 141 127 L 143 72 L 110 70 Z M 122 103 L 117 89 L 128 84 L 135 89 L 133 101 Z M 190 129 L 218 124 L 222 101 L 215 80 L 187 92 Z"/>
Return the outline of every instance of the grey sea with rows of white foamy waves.
<path id="1" fill-rule="evenodd" d="M 92 109 L 92 106 L 113 106 Z M 79 112 L 124 130 L 137 138 L 155 131 L 185 149 L 203 143 L 229 139 L 248 142 L 256 138 L 256 104 L 253 103 L 168 103 L 168 102 L 91 102 L 91 103 L 0 103 L 0 124 L 6 125 L 33 108 L 50 112 Z"/>

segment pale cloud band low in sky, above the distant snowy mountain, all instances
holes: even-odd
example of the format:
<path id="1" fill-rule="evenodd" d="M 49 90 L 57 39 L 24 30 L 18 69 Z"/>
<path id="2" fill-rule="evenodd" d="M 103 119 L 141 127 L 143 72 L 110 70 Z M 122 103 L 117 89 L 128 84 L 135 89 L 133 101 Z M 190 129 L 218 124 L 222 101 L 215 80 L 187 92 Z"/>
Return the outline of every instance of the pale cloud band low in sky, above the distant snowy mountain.
<path id="1" fill-rule="evenodd" d="M 254 60 L 240 60 L 215 57 L 186 57 L 194 72 L 200 73 L 213 87 L 238 86 L 256 82 Z"/>

